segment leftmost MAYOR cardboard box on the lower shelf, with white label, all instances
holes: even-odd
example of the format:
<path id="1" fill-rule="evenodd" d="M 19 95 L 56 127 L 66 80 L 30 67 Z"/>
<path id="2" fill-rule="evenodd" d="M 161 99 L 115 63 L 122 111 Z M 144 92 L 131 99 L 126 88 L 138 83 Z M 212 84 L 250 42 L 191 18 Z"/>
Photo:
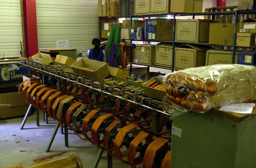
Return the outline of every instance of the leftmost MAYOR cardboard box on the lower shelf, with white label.
<path id="1" fill-rule="evenodd" d="M 154 65 L 155 45 L 136 44 L 133 52 L 133 62 L 142 65 Z"/>

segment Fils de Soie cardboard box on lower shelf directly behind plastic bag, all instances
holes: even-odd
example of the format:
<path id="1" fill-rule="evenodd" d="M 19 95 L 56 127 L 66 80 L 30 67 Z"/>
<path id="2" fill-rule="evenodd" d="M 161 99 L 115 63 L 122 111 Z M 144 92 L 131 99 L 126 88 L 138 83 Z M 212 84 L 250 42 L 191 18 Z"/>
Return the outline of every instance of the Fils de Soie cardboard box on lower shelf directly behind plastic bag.
<path id="1" fill-rule="evenodd" d="M 235 64 L 237 64 L 238 52 L 235 52 Z M 205 65 L 232 64 L 232 50 L 207 50 Z"/>

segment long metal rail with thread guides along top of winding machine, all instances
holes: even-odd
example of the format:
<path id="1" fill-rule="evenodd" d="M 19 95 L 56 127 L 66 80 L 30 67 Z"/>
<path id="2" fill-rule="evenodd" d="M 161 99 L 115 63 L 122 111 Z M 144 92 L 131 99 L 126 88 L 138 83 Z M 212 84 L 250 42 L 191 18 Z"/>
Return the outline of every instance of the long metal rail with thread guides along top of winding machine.
<path id="1" fill-rule="evenodd" d="M 146 96 L 144 94 L 140 93 L 133 93 L 134 91 L 129 91 L 122 87 L 117 87 L 115 85 L 109 85 L 107 83 L 104 83 L 103 81 L 98 81 L 95 79 L 91 79 L 88 77 L 80 76 L 75 73 L 71 73 L 65 70 L 57 69 L 55 67 L 49 68 L 50 66 L 38 64 L 32 61 L 23 60 L 19 62 L 19 64 L 26 66 L 28 68 L 34 69 L 36 72 L 41 72 L 41 74 L 44 74 L 48 77 L 52 78 L 61 78 L 63 80 L 67 80 L 69 82 L 72 82 L 74 84 L 78 84 L 80 86 L 87 87 L 91 89 L 92 91 L 96 91 L 99 94 L 106 94 L 110 95 L 125 101 L 128 101 L 130 103 L 136 104 L 138 106 L 145 107 L 147 109 L 165 114 L 170 116 L 170 114 L 165 113 L 166 109 L 162 105 L 162 102 L 154 99 L 153 97 Z M 88 84 L 86 84 L 88 83 Z M 107 87 L 109 86 L 109 87 Z M 127 92 L 132 93 L 132 95 L 127 94 Z M 115 94 L 113 94 L 115 93 Z M 126 97 L 123 97 L 123 96 Z M 163 109 L 163 111 L 157 109 Z"/>

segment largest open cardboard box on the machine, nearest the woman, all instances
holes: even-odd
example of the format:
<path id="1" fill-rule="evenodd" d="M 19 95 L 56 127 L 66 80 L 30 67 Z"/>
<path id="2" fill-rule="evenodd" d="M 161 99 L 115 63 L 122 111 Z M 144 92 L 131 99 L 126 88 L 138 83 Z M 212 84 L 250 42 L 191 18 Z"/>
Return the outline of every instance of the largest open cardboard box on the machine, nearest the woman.
<path id="1" fill-rule="evenodd" d="M 94 71 L 83 70 L 80 68 L 82 66 L 94 69 Z M 105 62 L 100 62 L 92 59 L 82 58 L 73 65 L 71 65 L 71 67 L 76 74 L 80 74 L 93 79 L 102 80 L 110 75 L 108 66 Z"/>

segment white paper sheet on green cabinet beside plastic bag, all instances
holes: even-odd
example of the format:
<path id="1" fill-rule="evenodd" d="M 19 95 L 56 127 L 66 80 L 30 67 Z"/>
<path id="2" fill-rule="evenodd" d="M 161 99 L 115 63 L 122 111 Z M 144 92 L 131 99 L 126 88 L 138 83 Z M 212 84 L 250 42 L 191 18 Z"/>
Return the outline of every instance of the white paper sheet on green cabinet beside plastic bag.
<path id="1" fill-rule="evenodd" d="M 255 106 L 255 103 L 230 104 L 228 106 L 221 107 L 220 111 L 241 113 L 241 114 L 251 114 L 254 106 Z"/>

